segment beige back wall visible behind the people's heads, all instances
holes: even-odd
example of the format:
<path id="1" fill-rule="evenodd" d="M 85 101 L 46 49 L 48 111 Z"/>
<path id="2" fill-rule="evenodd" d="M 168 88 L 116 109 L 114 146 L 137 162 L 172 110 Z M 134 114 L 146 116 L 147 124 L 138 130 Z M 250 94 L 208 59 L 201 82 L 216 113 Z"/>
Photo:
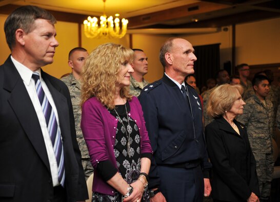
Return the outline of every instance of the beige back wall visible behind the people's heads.
<path id="1" fill-rule="evenodd" d="M 3 31 L 7 15 L 0 15 L 0 64 L 3 64 L 10 54 Z M 249 65 L 280 63 L 280 18 L 266 21 L 236 25 L 236 62 Z M 71 72 L 68 67 L 68 53 L 78 46 L 78 24 L 57 22 L 55 25 L 59 46 L 56 49 L 54 63 L 43 69 L 55 77 Z M 179 35 L 190 41 L 193 46 L 221 43 L 221 67 L 231 61 L 232 27 L 228 31 L 212 34 Z M 83 30 L 83 29 L 82 29 Z M 222 29 L 223 30 L 223 29 Z M 163 67 L 159 63 L 158 52 L 161 45 L 172 35 L 133 34 L 132 44 L 129 44 L 129 35 L 122 39 L 89 39 L 82 34 L 82 47 L 91 52 L 96 46 L 112 42 L 126 47 L 143 49 L 148 57 L 149 73 L 145 78 L 153 82 L 162 77 Z M 199 58 L 198 58 L 199 59 Z"/>

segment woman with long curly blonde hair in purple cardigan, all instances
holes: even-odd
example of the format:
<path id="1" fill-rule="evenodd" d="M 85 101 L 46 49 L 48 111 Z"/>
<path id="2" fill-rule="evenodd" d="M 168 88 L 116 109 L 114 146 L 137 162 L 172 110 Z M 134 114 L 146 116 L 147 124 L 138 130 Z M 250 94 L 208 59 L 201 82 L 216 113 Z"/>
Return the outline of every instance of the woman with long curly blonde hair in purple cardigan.
<path id="1" fill-rule="evenodd" d="M 94 168 L 92 201 L 149 201 L 152 149 L 141 105 L 129 94 L 133 51 L 104 44 L 82 72 L 81 127 Z"/>

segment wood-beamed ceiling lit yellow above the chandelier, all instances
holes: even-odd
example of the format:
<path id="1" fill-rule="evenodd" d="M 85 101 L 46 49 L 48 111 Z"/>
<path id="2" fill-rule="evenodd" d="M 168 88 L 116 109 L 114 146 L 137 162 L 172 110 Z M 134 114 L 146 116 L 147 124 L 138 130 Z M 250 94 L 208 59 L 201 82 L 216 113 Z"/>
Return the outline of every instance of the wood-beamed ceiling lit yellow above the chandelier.
<path id="1" fill-rule="evenodd" d="M 9 14 L 22 5 L 43 7 L 58 21 L 81 24 L 88 15 L 102 15 L 104 9 L 103 0 L 0 0 L 0 14 Z M 128 18 L 128 29 L 218 28 L 280 17 L 280 1 L 107 0 L 107 16 L 116 12 Z"/>

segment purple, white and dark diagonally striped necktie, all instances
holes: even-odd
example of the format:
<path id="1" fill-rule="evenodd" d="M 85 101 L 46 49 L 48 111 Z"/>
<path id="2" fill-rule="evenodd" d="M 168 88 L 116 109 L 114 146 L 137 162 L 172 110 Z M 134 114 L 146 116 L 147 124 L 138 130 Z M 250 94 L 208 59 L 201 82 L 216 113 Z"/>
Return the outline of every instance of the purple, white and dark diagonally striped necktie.
<path id="1" fill-rule="evenodd" d="M 58 181 L 64 187 L 65 182 L 65 167 L 64 167 L 64 152 L 61 140 L 61 132 L 58 129 L 57 121 L 54 111 L 49 103 L 49 100 L 42 88 L 41 81 L 39 79 L 39 73 L 34 72 L 32 78 L 35 81 L 35 88 L 39 98 L 39 102 L 42 106 L 43 113 L 48 126 L 49 135 L 51 138 L 57 166 L 58 166 Z"/>

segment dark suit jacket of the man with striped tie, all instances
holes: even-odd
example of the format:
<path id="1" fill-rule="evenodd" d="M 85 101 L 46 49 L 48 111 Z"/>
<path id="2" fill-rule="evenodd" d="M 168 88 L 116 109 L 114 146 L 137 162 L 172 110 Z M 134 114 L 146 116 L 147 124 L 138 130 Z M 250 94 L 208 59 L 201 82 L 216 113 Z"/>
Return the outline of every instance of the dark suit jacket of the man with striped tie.
<path id="1" fill-rule="evenodd" d="M 68 201 L 88 198 L 68 88 L 42 71 L 63 138 Z M 53 185 L 39 121 L 10 56 L 0 66 L 0 201 L 48 201 Z"/>

